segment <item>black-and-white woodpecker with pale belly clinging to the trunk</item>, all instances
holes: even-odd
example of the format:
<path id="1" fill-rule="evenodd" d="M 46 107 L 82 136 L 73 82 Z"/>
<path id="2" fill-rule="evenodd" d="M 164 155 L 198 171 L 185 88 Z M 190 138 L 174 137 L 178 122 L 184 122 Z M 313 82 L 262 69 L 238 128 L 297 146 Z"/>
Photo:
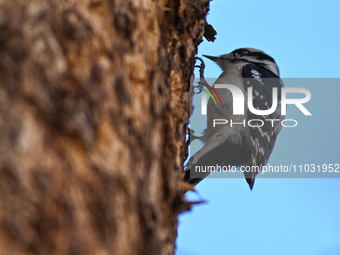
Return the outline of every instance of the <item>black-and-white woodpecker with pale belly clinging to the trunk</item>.
<path id="1" fill-rule="evenodd" d="M 275 140 L 281 130 L 281 87 L 279 69 L 275 60 L 263 51 L 253 48 L 241 48 L 220 57 L 205 56 L 216 62 L 223 70 L 215 84 L 233 84 L 240 88 L 247 102 L 247 88 L 253 88 L 253 106 L 267 110 L 272 106 L 272 88 L 278 88 L 278 106 L 270 115 L 255 115 L 245 108 L 245 115 L 233 115 L 232 94 L 228 89 L 216 89 L 222 105 L 215 106 L 210 98 L 207 106 L 207 129 L 201 140 L 203 148 L 193 155 L 187 165 L 184 181 L 196 185 L 209 173 L 195 173 L 190 168 L 195 166 L 258 166 L 256 172 L 244 172 L 250 189 L 255 176 L 264 166 L 273 151 Z M 232 119 L 233 122 L 260 119 L 262 127 L 246 125 L 218 125 L 213 127 L 214 119 Z M 280 121 L 267 121 L 276 119 Z M 260 122 L 259 122 L 260 123 Z M 253 123 L 256 125 L 256 123 Z"/>

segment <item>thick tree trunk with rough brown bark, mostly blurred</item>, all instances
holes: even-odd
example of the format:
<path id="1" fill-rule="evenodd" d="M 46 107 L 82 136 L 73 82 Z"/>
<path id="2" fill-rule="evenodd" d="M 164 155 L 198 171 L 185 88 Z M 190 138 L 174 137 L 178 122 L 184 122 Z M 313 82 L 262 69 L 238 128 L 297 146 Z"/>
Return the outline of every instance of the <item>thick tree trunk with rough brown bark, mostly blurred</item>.
<path id="1" fill-rule="evenodd" d="M 0 254 L 173 254 L 208 2 L 0 0 Z"/>

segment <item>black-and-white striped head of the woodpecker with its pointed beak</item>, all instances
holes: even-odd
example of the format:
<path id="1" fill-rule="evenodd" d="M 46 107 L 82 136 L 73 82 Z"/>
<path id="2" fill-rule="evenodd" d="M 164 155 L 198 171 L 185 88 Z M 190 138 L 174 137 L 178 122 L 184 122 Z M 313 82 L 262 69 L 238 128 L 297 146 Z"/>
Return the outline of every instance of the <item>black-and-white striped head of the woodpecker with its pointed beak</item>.
<path id="1" fill-rule="evenodd" d="M 264 67 L 279 76 L 279 68 L 276 65 L 275 60 L 261 50 L 253 48 L 241 48 L 219 57 L 207 55 L 203 56 L 216 62 L 222 68 L 222 70 L 226 70 L 229 66 L 235 63 L 244 62 Z"/>

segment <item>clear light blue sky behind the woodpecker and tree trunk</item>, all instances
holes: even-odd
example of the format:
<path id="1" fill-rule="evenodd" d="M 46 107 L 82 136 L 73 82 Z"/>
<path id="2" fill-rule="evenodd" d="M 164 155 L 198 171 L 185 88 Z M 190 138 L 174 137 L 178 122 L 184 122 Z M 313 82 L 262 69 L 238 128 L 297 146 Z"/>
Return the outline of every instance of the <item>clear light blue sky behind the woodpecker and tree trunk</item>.
<path id="1" fill-rule="evenodd" d="M 214 0 L 208 22 L 217 39 L 199 56 L 252 47 L 275 58 L 282 78 L 340 78 L 339 0 Z M 220 75 L 205 63 L 206 77 Z M 312 116 L 288 108 L 299 124 L 282 129 L 269 163 L 339 164 L 340 80 L 301 81 Z M 250 191 L 242 178 L 208 178 L 197 190 L 208 203 L 180 216 L 177 255 L 340 254 L 340 179 L 257 178 Z"/>

